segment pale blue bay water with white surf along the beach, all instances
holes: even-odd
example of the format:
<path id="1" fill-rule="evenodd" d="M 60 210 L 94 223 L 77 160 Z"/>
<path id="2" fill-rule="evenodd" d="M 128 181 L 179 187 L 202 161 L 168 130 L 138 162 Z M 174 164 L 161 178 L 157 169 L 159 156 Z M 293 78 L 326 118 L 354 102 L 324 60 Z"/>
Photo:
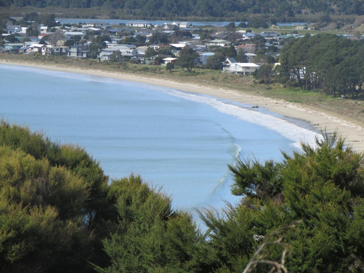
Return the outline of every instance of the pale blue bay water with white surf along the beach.
<path id="1" fill-rule="evenodd" d="M 279 161 L 317 135 L 264 108 L 148 84 L 10 65 L 0 75 L 6 121 L 84 147 L 110 179 L 142 175 L 178 209 L 237 202 L 227 164 Z"/>

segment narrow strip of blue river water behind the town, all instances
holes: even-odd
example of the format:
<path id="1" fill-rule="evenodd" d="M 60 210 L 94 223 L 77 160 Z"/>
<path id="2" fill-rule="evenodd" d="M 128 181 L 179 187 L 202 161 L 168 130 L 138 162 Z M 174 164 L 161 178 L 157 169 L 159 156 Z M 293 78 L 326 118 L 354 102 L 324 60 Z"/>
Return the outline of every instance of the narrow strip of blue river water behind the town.
<path id="1" fill-rule="evenodd" d="M 112 24 L 112 25 L 118 25 L 118 24 L 126 24 L 128 22 L 148 22 L 153 25 L 162 25 L 164 23 L 173 23 L 173 21 L 163 21 L 163 20 L 119 20 L 119 19 L 86 19 L 86 18 L 55 18 L 55 20 L 58 20 L 61 24 L 78 24 L 78 23 L 85 23 L 85 24 L 91 24 L 91 23 L 104 23 L 104 24 Z M 225 25 L 229 24 L 230 21 L 188 21 L 194 26 L 203 26 L 203 25 L 213 25 L 214 27 L 224 27 Z M 235 25 L 240 24 L 241 22 L 235 22 Z M 248 22 L 245 22 L 248 23 Z M 305 25 L 307 23 L 277 23 L 277 25 Z"/>

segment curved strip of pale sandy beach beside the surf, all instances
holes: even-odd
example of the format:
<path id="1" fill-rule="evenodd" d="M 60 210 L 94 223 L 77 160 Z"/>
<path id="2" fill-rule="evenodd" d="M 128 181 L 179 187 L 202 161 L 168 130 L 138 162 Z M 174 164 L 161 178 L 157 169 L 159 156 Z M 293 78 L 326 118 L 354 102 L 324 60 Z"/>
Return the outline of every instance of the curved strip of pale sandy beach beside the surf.
<path id="1" fill-rule="evenodd" d="M 104 76 L 108 78 L 115 78 L 120 80 L 127 80 L 131 82 L 153 84 L 166 88 L 174 88 L 186 92 L 194 92 L 214 96 L 221 99 L 228 99 L 235 102 L 240 102 L 249 105 L 258 105 L 259 107 L 267 108 L 269 111 L 276 112 L 291 118 L 302 119 L 310 122 L 314 128 L 324 129 L 328 132 L 333 132 L 338 129 L 339 132 L 346 137 L 346 142 L 352 145 L 356 151 L 364 151 L 364 128 L 357 124 L 347 122 L 346 120 L 336 118 L 324 112 L 314 111 L 308 108 L 303 108 L 300 104 L 289 103 L 282 100 L 273 100 L 261 96 L 253 96 L 245 94 L 242 91 L 232 91 L 226 89 L 218 89 L 211 87 L 203 87 L 187 83 L 177 83 L 168 80 L 154 79 L 149 77 L 132 76 L 122 73 L 111 73 L 98 70 L 80 70 L 75 68 L 62 68 L 55 66 L 44 66 L 38 64 L 16 63 L 0 61 L 0 64 L 27 66 L 40 69 L 81 73 L 94 76 Z"/>

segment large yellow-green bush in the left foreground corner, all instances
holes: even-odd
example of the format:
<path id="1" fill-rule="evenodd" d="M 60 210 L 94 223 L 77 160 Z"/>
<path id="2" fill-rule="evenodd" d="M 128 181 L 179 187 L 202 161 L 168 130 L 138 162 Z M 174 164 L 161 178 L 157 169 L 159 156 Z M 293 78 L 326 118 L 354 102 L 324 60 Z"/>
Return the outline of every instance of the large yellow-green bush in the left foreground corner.
<path id="1" fill-rule="evenodd" d="M 110 216 L 98 163 L 1 121 L 0 169 L 0 271 L 90 270 L 87 259 L 102 255 L 92 230 Z"/>

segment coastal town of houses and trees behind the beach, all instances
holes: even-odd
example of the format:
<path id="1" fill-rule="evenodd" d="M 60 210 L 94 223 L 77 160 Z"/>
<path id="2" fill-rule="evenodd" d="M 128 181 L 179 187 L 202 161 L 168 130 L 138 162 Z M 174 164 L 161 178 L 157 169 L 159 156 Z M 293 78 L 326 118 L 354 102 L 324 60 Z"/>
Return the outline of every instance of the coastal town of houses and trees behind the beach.
<path id="1" fill-rule="evenodd" d="M 98 58 L 100 61 L 116 59 L 167 66 L 177 62 L 183 48 L 189 48 L 198 54 L 194 60 L 196 66 L 250 75 L 263 64 L 272 64 L 275 68 L 285 42 L 304 36 L 298 35 L 297 31 L 291 34 L 253 32 L 244 28 L 245 23 L 205 28 L 175 21 L 161 25 L 130 21 L 122 26 L 100 22 L 66 25 L 55 21 L 54 24 L 54 27 L 40 24 L 31 31 L 28 27 L 8 24 L 7 33 L 2 33 L 0 50 L 14 54 L 64 55 Z M 30 36 L 31 32 L 37 35 Z M 216 53 L 219 57 L 214 59 L 212 56 Z"/>

